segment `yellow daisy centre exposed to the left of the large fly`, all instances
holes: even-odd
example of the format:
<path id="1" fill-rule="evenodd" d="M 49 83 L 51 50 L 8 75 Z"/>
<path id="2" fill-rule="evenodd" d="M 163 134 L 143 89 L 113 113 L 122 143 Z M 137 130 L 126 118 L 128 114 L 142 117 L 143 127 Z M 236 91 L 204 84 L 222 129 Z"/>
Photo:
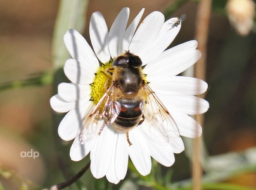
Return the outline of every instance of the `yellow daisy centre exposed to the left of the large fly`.
<path id="1" fill-rule="evenodd" d="M 91 88 L 92 88 L 91 101 L 93 101 L 93 103 L 95 105 L 99 102 L 99 99 L 101 99 L 103 94 L 105 94 L 106 89 L 108 89 L 108 87 L 111 84 L 111 79 L 109 79 L 106 76 L 106 68 L 113 68 L 112 63 L 106 63 L 106 64 L 99 66 L 99 69 L 96 72 L 96 75 L 94 78 L 94 82 L 93 82 L 93 84 L 91 84 Z M 106 81 L 108 79 L 110 81 L 108 81 L 108 83 L 106 83 Z"/>

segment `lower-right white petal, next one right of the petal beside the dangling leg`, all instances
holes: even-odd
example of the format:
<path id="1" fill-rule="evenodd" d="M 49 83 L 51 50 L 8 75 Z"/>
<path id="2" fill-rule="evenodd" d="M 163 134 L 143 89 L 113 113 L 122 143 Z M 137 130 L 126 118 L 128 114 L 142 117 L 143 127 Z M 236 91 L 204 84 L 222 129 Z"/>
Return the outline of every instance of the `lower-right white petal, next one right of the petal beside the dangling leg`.
<path id="1" fill-rule="evenodd" d="M 165 167 L 170 167 L 174 163 L 174 153 L 170 144 L 165 144 L 163 146 L 162 144 L 148 141 L 148 147 L 150 149 L 150 155 L 152 158 L 157 160 L 157 162 L 161 163 Z"/>

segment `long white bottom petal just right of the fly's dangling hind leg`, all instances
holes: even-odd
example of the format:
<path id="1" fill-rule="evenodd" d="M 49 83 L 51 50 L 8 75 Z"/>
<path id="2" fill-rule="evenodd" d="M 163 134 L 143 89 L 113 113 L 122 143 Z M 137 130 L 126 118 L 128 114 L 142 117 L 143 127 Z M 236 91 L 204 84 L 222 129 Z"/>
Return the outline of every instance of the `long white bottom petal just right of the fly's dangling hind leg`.
<path id="1" fill-rule="evenodd" d="M 129 132 L 129 139 L 132 143 L 128 148 L 132 163 L 141 175 L 150 174 L 150 150 L 148 149 L 148 144 L 146 144 L 146 139 L 144 139 L 138 127 Z"/>

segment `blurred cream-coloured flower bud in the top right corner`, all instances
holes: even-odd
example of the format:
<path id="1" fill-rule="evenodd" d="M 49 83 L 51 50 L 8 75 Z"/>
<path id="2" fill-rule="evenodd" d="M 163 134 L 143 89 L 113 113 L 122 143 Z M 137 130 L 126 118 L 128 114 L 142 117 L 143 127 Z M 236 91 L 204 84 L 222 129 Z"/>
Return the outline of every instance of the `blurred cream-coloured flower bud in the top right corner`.
<path id="1" fill-rule="evenodd" d="M 255 3 L 252 0 L 229 0 L 227 15 L 238 34 L 247 35 L 253 27 Z"/>

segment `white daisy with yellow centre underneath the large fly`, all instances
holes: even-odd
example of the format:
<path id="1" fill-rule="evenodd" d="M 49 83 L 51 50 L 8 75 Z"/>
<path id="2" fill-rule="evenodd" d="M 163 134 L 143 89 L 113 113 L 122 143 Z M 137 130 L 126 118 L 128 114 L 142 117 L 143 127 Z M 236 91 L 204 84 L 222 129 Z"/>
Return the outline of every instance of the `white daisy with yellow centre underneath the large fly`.
<path id="1" fill-rule="evenodd" d="M 166 137 L 157 130 L 153 137 L 148 127 L 149 120 L 129 131 L 131 146 L 127 143 L 126 133 L 115 130 L 112 124 L 106 126 L 100 135 L 81 143 L 79 134 L 84 119 L 105 93 L 107 78 L 101 71 L 110 68 L 114 58 L 125 51 L 141 58 L 148 85 L 174 118 L 181 136 L 200 136 L 202 128 L 188 115 L 208 110 L 208 102 L 194 96 L 205 92 L 207 83 L 176 76 L 201 57 L 196 49 L 197 42 L 188 41 L 165 51 L 181 28 L 181 23 L 177 24 L 179 18 L 164 22 L 163 14 L 154 11 L 139 25 L 143 12 L 144 9 L 126 28 L 129 8 L 123 8 L 109 33 L 101 13 L 93 13 L 89 28 L 93 49 L 79 32 L 68 30 L 64 41 L 73 59 L 66 61 L 64 72 L 71 82 L 58 85 L 58 94 L 50 101 L 54 111 L 68 112 L 58 133 L 65 141 L 75 139 L 70 149 L 71 159 L 82 160 L 91 152 L 93 176 L 101 178 L 106 175 L 108 181 L 115 184 L 124 179 L 129 157 L 141 175 L 148 175 L 151 157 L 170 167 L 175 160 L 174 153 L 181 153 L 184 144 L 181 137 Z M 162 142 L 155 141 L 156 136 Z"/>

